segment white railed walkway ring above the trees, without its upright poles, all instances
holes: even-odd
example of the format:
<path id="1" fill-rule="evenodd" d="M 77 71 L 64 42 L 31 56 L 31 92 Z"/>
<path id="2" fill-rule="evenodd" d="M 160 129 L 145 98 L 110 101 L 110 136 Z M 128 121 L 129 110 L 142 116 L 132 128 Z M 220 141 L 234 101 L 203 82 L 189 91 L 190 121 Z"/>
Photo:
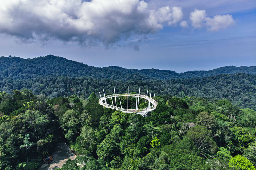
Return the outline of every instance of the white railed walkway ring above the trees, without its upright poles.
<path id="1" fill-rule="evenodd" d="M 103 102 L 103 101 L 105 101 L 105 99 L 109 99 L 109 98 L 113 98 L 113 97 L 122 97 L 122 96 L 140 97 L 140 98 L 143 98 L 143 99 L 146 99 L 147 101 L 149 101 L 152 104 L 152 106 L 146 107 L 144 109 L 137 109 L 136 110 L 136 109 L 124 109 L 124 108 L 114 106 L 114 103 L 113 103 L 113 105 L 111 105 L 111 104 L 107 104 L 107 103 Z M 129 93 L 129 95 L 127 93 L 124 93 L 124 94 L 112 94 L 112 95 L 108 95 L 108 96 L 103 96 L 99 99 L 99 103 L 100 103 L 100 105 L 102 105 L 106 108 L 121 110 L 122 112 L 125 112 L 125 113 L 138 112 L 139 114 L 142 114 L 142 115 L 144 115 L 147 112 L 155 110 L 155 108 L 157 106 L 157 102 L 154 99 L 152 99 L 148 96 L 145 96 L 145 95 L 141 95 L 141 94 L 138 95 L 138 94 L 133 94 L 133 93 Z"/>

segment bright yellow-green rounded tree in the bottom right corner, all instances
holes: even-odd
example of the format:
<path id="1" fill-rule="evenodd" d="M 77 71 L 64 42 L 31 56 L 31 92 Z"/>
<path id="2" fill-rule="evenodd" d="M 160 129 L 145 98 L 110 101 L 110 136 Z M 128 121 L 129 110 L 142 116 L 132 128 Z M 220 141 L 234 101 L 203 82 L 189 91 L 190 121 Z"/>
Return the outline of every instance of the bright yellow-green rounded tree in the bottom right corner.
<path id="1" fill-rule="evenodd" d="M 255 170 L 252 163 L 242 155 L 236 155 L 232 157 L 229 162 L 229 167 L 235 168 L 237 170 Z"/>

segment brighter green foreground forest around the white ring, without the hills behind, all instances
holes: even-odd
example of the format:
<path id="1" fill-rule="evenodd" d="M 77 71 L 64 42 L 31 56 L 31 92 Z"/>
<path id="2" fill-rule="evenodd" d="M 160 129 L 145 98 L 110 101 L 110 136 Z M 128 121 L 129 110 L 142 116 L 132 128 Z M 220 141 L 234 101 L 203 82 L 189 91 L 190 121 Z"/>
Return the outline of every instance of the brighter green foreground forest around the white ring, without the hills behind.
<path id="1" fill-rule="evenodd" d="M 0 169 L 36 169 L 66 141 L 77 158 L 62 170 L 255 170 L 254 110 L 226 99 L 155 99 L 143 117 L 103 108 L 94 93 L 45 100 L 28 89 L 0 92 Z"/>

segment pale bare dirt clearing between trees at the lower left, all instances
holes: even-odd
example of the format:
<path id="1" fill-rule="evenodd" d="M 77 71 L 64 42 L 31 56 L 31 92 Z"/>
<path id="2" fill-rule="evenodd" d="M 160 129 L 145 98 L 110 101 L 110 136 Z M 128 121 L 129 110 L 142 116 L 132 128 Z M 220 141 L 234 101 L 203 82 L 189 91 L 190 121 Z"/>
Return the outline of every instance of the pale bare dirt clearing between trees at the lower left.
<path id="1" fill-rule="evenodd" d="M 62 165 L 67 162 L 66 151 L 68 151 L 69 159 L 76 159 L 77 156 L 69 149 L 66 143 L 59 143 L 52 154 L 54 160 L 50 165 L 44 164 L 38 170 L 54 170 L 55 168 L 62 168 Z"/>

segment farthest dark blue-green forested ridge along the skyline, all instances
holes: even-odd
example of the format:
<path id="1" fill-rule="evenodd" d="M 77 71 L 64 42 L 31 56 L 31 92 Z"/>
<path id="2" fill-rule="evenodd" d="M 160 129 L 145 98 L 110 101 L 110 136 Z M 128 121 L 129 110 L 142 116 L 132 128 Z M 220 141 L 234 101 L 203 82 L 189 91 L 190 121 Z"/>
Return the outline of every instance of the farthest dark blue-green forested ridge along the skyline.
<path id="1" fill-rule="evenodd" d="M 255 74 L 256 67 L 235 67 L 226 66 L 209 71 L 188 71 L 184 73 L 176 73 L 170 70 L 157 69 L 125 69 L 117 66 L 109 67 L 93 67 L 81 62 L 68 60 L 63 57 L 47 55 L 45 57 L 37 57 L 34 59 L 24 59 L 20 57 L 1 57 L 0 58 L 0 77 L 22 79 L 33 78 L 37 76 L 92 76 L 93 78 L 104 78 L 111 80 L 130 80 L 130 79 L 178 79 L 204 77 L 216 74 L 235 74 L 248 73 Z"/>

